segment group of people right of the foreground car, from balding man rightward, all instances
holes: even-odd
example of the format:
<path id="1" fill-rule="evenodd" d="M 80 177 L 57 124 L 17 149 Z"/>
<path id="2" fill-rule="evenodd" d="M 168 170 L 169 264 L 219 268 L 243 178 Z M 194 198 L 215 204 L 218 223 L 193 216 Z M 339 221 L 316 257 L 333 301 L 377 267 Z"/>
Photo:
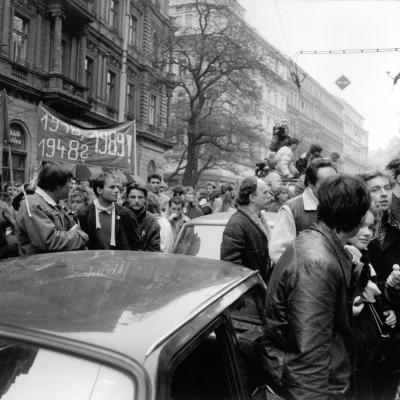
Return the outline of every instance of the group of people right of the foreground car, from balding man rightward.
<path id="1" fill-rule="evenodd" d="M 400 159 L 353 176 L 314 157 L 304 191 L 279 208 L 270 232 L 268 175 L 242 181 L 221 259 L 267 283 L 261 357 L 272 398 L 396 398 L 399 182 Z"/>

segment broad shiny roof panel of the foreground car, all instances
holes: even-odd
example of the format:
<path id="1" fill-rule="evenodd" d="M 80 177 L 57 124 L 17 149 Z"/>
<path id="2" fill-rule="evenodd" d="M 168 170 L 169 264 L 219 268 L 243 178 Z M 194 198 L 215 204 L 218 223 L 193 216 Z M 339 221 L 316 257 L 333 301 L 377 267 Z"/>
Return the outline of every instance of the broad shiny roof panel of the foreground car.
<path id="1" fill-rule="evenodd" d="M 223 261 L 132 251 L 9 259 L 0 262 L 0 328 L 72 339 L 143 362 L 210 299 L 254 274 Z"/>

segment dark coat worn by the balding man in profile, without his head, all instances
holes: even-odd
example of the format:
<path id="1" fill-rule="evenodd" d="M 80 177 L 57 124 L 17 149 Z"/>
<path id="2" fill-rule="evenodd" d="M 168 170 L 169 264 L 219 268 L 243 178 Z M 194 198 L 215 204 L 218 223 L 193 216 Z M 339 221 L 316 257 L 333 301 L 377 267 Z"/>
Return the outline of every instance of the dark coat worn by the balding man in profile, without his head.
<path id="1" fill-rule="evenodd" d="M 267 280 L 270 266 L 265 233 L 240 209 L 226 224 L 221 243 L 221 260 L 259 270 Z"/>

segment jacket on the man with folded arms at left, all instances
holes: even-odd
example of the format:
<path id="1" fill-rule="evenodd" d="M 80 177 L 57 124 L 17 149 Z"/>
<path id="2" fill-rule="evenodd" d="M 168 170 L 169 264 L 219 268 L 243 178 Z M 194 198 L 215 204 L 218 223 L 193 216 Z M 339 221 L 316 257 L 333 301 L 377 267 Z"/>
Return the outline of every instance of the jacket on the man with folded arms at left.
<path id="1" fill-rule="evenodd" d="M 20 254 L 83 249 L 88 237 L 79 228 L 71 230 L 75 225 L 61 204 L 50 204 L 38 193 L 28 195 L 17 214 Z"/>

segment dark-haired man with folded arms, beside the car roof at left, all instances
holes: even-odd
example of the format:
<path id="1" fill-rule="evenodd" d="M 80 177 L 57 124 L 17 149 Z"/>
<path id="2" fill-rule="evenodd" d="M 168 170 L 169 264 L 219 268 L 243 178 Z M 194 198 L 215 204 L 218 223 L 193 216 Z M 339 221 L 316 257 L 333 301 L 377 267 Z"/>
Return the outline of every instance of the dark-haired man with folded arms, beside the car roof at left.
<path id="1" fill-rule="evenodd" d="M 21 255 L 85 248 L 87 234 L 60 203 L 68 192 L 68 171 L 47 162 L 39 172 L 35 193 L 26 197 L 17 214 Z"/>

